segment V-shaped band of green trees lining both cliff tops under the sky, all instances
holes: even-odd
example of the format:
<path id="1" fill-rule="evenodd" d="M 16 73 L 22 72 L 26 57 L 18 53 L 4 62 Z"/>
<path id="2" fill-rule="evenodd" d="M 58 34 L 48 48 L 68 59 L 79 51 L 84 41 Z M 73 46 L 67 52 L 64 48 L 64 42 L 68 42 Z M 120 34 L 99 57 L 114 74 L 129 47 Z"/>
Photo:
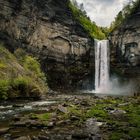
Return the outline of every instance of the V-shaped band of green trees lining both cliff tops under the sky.
<path id="1" fill-rule="evenodd" d="M 94 21 L 91 21 L 87 16 L 83 3 L 78 4 L 76 0 L 71 0 L 69 7 L 72 10 L 75 18 L 86 29 L 89 35 L 97 39 L 105 39 L 108 34 L 119 28 L 131 15 L 134 15 L 140 9 L 140 0 L 133 0 L 129 2 L 124 8 L 117 14 L 114 21 L 110 24 L 110 27 L 99 27 Z"/>

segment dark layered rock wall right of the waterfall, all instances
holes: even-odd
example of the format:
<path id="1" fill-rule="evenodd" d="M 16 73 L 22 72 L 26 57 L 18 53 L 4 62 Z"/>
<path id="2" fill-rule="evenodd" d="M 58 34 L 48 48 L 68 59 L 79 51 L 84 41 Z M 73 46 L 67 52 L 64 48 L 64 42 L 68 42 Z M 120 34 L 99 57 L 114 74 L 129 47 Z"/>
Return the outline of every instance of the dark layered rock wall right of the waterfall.
<path id="1" fill-rule="evenodd" d="M 110 35 L 112 69 L 140 87 L 140 8 Z"/>

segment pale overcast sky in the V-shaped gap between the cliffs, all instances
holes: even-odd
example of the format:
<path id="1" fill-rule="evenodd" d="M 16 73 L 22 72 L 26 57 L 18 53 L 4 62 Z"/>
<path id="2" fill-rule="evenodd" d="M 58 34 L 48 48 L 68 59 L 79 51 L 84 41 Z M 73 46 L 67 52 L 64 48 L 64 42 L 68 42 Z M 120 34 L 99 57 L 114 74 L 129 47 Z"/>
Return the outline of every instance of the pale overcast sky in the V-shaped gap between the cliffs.
<path id="1" fill-rule="evenodd" d="M 87 15 L 99 26 L 109 26 L 129 1 L 131 0 L 77 0 L 84 4 Z"/>

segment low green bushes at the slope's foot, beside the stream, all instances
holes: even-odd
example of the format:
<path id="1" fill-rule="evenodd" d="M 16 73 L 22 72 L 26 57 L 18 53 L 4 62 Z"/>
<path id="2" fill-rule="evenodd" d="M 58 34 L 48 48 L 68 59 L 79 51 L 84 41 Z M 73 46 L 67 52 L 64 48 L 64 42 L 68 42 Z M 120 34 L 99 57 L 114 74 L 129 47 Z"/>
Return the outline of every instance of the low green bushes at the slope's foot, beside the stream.
<path id="1" fill-rule="evenodd" d="M 28 77 L 0 80 L 0 100 L 8 98 L 40 98 L 42 89 Z"/>

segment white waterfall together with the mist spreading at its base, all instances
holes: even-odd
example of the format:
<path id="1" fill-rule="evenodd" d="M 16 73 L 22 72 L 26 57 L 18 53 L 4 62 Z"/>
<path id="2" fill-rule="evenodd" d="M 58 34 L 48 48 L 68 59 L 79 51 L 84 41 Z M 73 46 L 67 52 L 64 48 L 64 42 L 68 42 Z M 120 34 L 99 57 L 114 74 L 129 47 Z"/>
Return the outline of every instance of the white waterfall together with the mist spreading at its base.
<path id="1" fill-rule="evenodd" d="M 110 76 L 110 49 L 108 40 L 95 40 L 95 84 L 87 93 L 108 95 L 133 95 L 136 91 L 132 80 Z"/>

